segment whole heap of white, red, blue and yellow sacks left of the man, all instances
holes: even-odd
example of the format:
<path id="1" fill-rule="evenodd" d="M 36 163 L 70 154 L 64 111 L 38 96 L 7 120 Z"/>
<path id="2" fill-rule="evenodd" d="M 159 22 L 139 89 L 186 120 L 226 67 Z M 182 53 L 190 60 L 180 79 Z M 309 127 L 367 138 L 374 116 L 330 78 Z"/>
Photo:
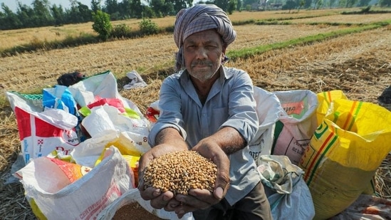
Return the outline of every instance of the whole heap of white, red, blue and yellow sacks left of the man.
<path id="1" fill-rule="evenodd" d="M 137 163 L 150 149 L 150 121 L 118 93 L 113 73 L 6 95 L 26 164 L 14 176 L 38 219 L 96 219 L 127 192 L 139 198 Z"/>

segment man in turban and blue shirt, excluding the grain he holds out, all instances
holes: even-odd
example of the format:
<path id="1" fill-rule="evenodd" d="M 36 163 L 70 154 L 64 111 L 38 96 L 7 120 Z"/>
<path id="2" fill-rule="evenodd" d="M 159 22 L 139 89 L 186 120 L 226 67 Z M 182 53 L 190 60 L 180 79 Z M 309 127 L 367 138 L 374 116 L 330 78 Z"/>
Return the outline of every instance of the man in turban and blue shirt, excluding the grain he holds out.
<path id="1" fill-rule="evenodd" d="M 174 211 L 179 218 L 192 212 L 194 219 L 271 219 L 247 145 L 259 126 L 251 78 L 223 66 L 235 38 L 231 21 L 217 6 L 196 5 L 177 14 L 179 72 L 162 83 L 160 117 L 148 137 L 152 149 L 142 155 L 139 170 L 162 154 L 190 149 L 217 164 L 217 180 L 213 193 L 191 189 L 175 197 L 144 189 L 140 182 L 142 198 L 155 209 Z"/>

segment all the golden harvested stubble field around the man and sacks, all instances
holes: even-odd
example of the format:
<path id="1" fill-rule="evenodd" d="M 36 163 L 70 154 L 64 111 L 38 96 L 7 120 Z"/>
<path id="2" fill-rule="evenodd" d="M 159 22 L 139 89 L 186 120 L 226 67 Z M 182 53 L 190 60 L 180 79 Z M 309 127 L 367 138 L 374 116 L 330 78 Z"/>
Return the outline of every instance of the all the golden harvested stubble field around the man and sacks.
<path id="1" fill-rule="evenodd" d="M 278 14 L 281 15 L 296 16 Z M 235 26 L 238 38 L 229 46 L 228 51 L 250 49 L 254 46 L 346 28 L 311 26 L 306 24 L 308 22 L 374 21 L 372 15 L 348 15 L 342 18 L 339 16 L 322 16 L 306 21 L 292 19 L 293 23 L 297 21 L 301 24 L 284 26 Z M 346 19 L 353 17 L 355 19 L 351 21 Z M 343 18 L 345 20 L 342 20 Z M 385 19 L 380 16 L 379 20 L 375 21 L 383 20 Z M 248 71 L 254 85 L 269 91 L 308 89 L 319 93 L 325 90 L 343 90 L 351 100 L 377 103 L 377 97 L 391 85 L 390 42 L 391 26 L 388 25 L 305 46 L 272 50 L 251 58 L 238 58 L 226 66 Z M 38 91 L 47 85 L 56 84 L 59 75 L 73 70 L 80 70 L 86 75 L 111 70 L 118 78 L 121 95 L 132 100 L 142 112 L 145 112 L 148 105 L 157 100 L 165 74 L 171 73 L 172 69 L 165 67 L 173 64 L 176 51 L 170 34 L 0 58 L 0 88 L 3 91 L 1 97 L 4 97 L 7 90 L 26 93 Z M 122 85 L 128 83 L 125 73 L 133 69 L 137 69 L 142 75 L 148 84 L 147 87 L 122 90 Z M 20 142 L 11 108 L 2 108 L 0 117 L 0 176 L 1 179 L 5 179 L 19 152 Z M 376 190 L 384 199 L 391 199 L 390 162 L 389 154 L 376 175 Z M 24 199 L 24 189 L 20 183 L 3 185 L 1 182 L 0 189 L 2 219 L 36 219 Z"/>

